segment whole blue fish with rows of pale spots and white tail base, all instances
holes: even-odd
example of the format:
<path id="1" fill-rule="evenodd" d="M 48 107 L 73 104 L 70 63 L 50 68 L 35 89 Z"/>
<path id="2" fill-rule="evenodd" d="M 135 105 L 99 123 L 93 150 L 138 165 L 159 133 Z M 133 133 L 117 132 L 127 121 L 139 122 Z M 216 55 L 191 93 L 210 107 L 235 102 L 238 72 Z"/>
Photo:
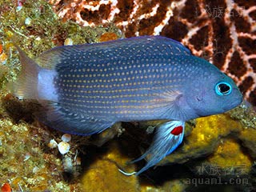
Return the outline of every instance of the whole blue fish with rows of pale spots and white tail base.
<path id="1" fill-rule="evenodd" d="M 133 161 L 147 160 L 136 175 L 182 143 L 186 121 L 222 114 L 242 102 L 230 77 L 171 38 L 58 46 L 34 59 L 17 49 L 22 70 L 11 90 L 42 104 L 37 115 L 46 126 L 91 135 L 115 122 L 166 120 Z"/>

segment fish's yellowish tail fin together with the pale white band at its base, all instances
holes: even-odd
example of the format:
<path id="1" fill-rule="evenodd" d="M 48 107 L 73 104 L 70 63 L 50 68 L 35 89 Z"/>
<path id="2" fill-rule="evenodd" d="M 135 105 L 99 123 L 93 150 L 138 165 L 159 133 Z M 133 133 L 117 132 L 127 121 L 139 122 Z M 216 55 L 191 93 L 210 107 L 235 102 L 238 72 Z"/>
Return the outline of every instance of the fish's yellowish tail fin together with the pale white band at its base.
<path id="1" fill-rule="evenodd" d="M 58 102 L 58 93 L 54 87 L 54 69 L 44 69 L 16 46 L 21 62 L 21 71 L 15 82 L 7 88 L 18 98 L 37 99 L 39 101 Z"/>

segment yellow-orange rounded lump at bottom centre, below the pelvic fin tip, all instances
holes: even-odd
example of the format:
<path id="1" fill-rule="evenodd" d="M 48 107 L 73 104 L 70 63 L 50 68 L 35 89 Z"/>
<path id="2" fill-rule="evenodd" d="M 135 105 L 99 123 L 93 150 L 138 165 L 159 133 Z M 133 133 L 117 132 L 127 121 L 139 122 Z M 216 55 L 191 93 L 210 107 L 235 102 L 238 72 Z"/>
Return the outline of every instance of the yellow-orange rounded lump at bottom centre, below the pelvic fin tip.
<path id="1" fill-rule="evenodd" d="M 91 162 L 82 176 L 84 191 L 139 191 L 138 178 L 121 174 L 117 165 L 124 165 L 129 158 L 122 156 L 117 142 L 111 142 L 106 153 Z M 107 169 L 106 169 L 107 167 Z M 134 169 L 134 165 L 131 165 Z"/>

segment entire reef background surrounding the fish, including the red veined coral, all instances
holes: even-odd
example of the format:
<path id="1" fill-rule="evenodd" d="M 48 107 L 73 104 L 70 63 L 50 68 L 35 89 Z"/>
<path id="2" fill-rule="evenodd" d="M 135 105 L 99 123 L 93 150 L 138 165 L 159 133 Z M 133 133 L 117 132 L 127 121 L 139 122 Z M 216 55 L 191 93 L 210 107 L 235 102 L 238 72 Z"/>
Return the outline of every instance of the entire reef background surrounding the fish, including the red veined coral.
<path id="1" fill-rule="evenodd" d="M 253 99 L 254 1 L 49 2 L 64 22 L 46 1 L 0 0 L 2 190 L 206 191 L 208 188 L 196 186 L 194 181 L 198 180 L 193 179 L 214 177 L 228 184 L 230 178 L 247 179 L 245 185 L 218 185 L 219 191 L 250 191 L 255 186 L 256 114 L 245 104 L 229 114 L 188 122 L 182 146 L 163 159 L 157 169 L 151 168 L 139 177 L 127 177 L 118 168 L 133 172 L 145 164 L 126 162 L 138 158 L 149 146 L 154 125 L 159 122 L 117 124 L 102 134 L 90 138 L 72 135 L 70 140 L 68 135 L 63 137 L 34 120 L 31 114 L 37 109 L 36 104 L 18 101 L 5 90 L 6 82 L 14 79 L 19 70 L 18 54 L 10 41 L 13 34 L 18 37 L 18 46 L 34 58 L 64 43 L 121 38 L 123 34 L 117 25 L 126 37 L 162 34 L 183 42 L 194 54 L 230 74 L 245 96 Z M 78 22 L 76 17 L 82 19 L 80 24 L 88 26 L 69 21 Z M 70 146 L 66 154 L 58 151 L 61 142 Z"/>

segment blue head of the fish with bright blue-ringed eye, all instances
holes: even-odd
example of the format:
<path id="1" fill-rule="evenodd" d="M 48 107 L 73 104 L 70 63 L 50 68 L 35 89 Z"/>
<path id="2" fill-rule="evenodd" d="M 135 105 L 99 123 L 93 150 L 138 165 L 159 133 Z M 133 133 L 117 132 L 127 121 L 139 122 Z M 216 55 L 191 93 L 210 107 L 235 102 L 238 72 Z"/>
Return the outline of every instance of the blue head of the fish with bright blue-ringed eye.
<path id="1" fill-rule="evenodd" d="M 215 66 L 198 74 L 190 82 L 191 91 L 186 92 L 186 102 L 197 117 L 222 114 L 242 102 L 242 94 L 234 81 Z"/>

